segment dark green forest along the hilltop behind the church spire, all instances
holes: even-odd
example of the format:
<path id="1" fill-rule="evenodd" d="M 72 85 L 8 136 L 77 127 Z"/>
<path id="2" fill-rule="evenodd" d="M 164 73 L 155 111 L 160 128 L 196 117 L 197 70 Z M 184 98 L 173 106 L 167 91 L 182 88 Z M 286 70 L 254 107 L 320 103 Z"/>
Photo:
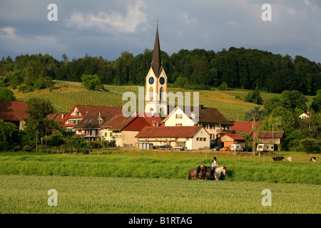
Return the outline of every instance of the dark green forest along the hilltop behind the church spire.
<path id="1" fill-rule="evenodd" d="M 146 49 L 133 56 L 124 51 L 114 61 L 102 56 L 68 60 L 63 54 L 58 61 L 49 54 L 21 55 L 12 59 L 10 56 L 0 61 L 0 76 L 6 80 L 18 81 L 26 73 L 31 62 L 36 66 L 41 63 L 44 76 L 62 81 L 81 82 L 81 76 L 97 75 L 103 84 L 108 85 L 144 85 L 151 67 L 153 51 Z M 298 90 L 305 95 L 315 95 L 321 89 L 321 64 L 302 56 L 282 56 L 257 49 L 233 48 L 215 51 L 182 49 L 168 56 L 161 52 L 163 67 L 168 76 L 168 83 L 175 83 L 178 78 L 188 82 L 188 86 L 214 86 L 227 83 L 229 88 L 258 88 L 270 93 L 283 90 Z M 41 70 L 39 70 L 41 71 Z M 20 79 L 16 79 L 19 78 Z M 14 79 L 12 79 L 14 78 Z M 4 79 L 3 79 L 4 81 Z M 1 82 L 0 82 L 1 83 Z M 5 82 L 4 82 L 5 83 Z M 39 82 L 46 85 L 45 78 Z M 176 83 L 180 84 L 180 83 Z M 202 87 L 200 87 L 202 88 Z"/>

